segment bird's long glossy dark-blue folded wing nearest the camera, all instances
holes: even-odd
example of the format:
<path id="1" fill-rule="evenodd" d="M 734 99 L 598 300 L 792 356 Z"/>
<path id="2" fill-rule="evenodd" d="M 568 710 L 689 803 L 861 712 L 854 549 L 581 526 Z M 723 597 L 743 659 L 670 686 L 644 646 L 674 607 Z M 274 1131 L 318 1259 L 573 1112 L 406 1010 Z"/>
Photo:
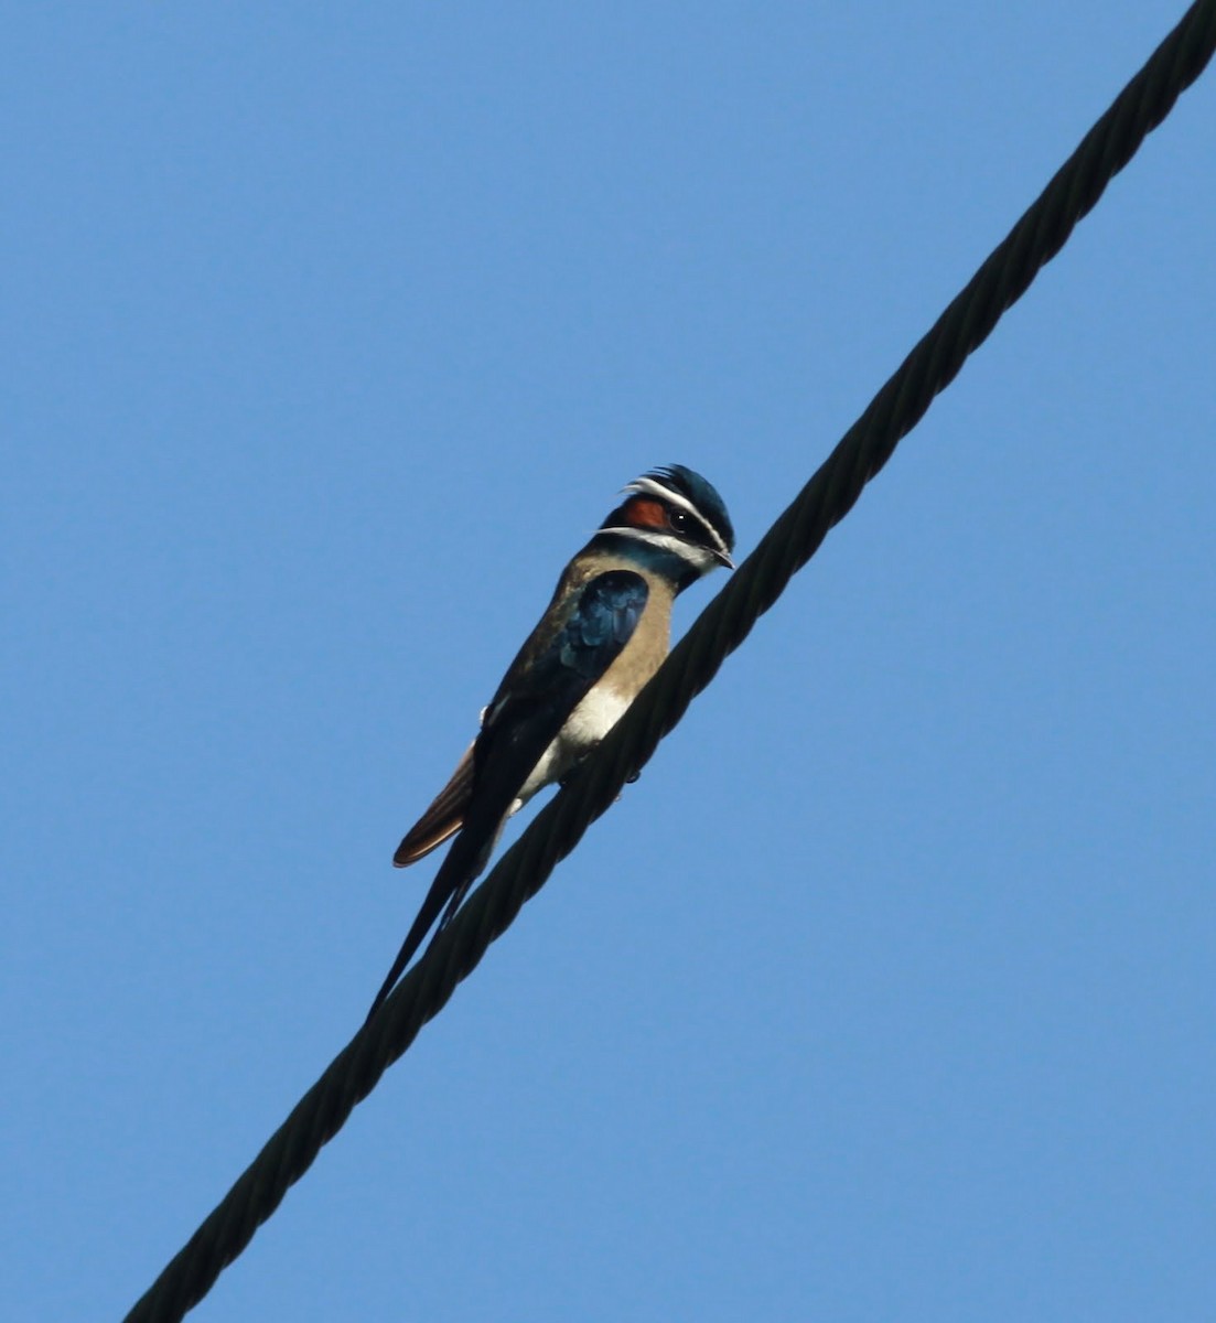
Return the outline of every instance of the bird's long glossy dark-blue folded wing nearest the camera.
<path id="1" fill-rule="evenodd" d="M 648 589 L 632 570 L 607 570 L 589 579 L 565 623 L 540 651 L 531 646 L 545 620 L 524 644 L 499 685 L 472 746 L 472 785 L 464 804 L 463 831 L 453 841 L 435 880 L 384 980 L 368 1019 L 380 1009 L 393 984 L 414 958 L 431 925 L 450 922 L 474 880 L 486 867 L 507 814 L 541 754 L 591 685 L 629 643 Z M 527 660 L 527 664 L 524 663 Z M 415 828 L 417 830 L 417 828 Z M 402 843 L 404 847 L 405 843 Z"/>

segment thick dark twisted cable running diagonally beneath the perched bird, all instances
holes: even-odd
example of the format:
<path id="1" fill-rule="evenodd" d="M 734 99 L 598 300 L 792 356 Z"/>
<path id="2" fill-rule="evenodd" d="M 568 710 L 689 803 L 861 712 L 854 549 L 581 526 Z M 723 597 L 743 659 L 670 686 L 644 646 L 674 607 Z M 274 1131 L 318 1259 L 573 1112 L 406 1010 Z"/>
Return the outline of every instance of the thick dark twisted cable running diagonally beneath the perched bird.
<path id="1" fill-rule="evenodd" d="M 447 1004 L 490 943 L 619 794 L 853 507 L 865 483 L 958 374 L 967 356 L 1064 246 L 1216 49 L 1216 0 L 1196 0 L 1085 135 L 1035 204 L 883 386 L 765 534 L 659 673 L 581 769 L 503 856 L 380 1013 L 300 1099 L 220 1205 L 168 1263 L 126 1323 L 176 1323 L 245 1249 L 323 1144 Z"/>

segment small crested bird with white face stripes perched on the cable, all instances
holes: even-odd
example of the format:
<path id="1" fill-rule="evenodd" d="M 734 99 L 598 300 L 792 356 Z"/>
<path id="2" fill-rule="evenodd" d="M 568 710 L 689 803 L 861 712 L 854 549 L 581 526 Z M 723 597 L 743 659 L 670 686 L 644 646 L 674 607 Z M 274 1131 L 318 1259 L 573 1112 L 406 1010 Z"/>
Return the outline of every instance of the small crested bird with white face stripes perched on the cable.
<path id="1" fill-rule="evenodd" d="M 393 864 L 405 868 L 455 836 L 368 1021 L 435 921 L 435 937 L 451 922 L 507 819 L 569 778 L 659 669 L 676 595 L 717 566 L 734 569 L 730 516 L 700 474 L 683 464 L 652 468 L 621 496 L 562 570 L 482 710 L 476 738 L 397 847 Z"/>

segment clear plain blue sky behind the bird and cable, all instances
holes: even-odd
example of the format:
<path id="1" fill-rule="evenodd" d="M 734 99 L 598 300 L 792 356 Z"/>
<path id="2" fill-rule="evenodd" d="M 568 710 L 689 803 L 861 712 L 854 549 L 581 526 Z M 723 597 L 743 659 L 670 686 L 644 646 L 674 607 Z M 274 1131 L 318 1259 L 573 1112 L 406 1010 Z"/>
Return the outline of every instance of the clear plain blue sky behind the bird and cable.
<path id="1" fill-rule="evenodd" d="M 1182 11 L 8 13 L 8 1316 L 359 1025 L 617 490 L 749 550 Z M 1216 1312 L 1213 161 L 1209 71 L 197 1319 Z"/>

